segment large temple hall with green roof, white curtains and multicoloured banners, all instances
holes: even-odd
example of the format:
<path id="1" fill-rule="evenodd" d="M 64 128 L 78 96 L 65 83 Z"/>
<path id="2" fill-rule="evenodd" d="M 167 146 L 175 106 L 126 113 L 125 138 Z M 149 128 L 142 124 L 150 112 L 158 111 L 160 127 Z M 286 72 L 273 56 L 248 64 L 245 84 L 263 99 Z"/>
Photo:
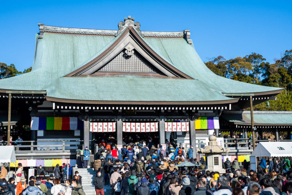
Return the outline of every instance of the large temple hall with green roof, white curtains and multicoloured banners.
<path id="1" fill-rule="evenodd" d="M 198 146 L 196 134 L 218 134 L 225 111 L 230 124 L 232 111 L 250 107 L 251 98 L 256 105 L 282 91 L 215 75 L 194 49 L 190 30 L 141 31 L 134 20 L 124 18 L 117 30 L 39 23 L 32 71 L 0 80 L 3 139 L 8 127 L 38 145 L 70 142 L 62 154 L 50 154 L 56 158 L 72 158 L 85 146 L 94 150 L 102 134 L 118 145 L 125 136 L 150 133 L 160 144 L 172 136 Z"/>

